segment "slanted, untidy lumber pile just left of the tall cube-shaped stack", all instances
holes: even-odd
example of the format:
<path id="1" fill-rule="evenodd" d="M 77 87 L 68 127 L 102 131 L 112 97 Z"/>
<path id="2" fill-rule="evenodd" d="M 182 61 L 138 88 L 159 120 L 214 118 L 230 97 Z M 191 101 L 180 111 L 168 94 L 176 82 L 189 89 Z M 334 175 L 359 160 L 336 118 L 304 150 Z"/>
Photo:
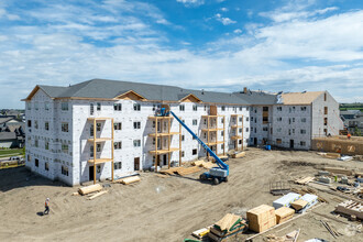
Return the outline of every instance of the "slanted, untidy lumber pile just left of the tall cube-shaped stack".
<path id="1" fill-rule="evenodd" d="M 246 229 L 248 224 L 244 219 L 237 215 L 227 213 L 210 228 L 208 237 L 211 241 L 223 241 L 226 238 L 243 232 Z"/>

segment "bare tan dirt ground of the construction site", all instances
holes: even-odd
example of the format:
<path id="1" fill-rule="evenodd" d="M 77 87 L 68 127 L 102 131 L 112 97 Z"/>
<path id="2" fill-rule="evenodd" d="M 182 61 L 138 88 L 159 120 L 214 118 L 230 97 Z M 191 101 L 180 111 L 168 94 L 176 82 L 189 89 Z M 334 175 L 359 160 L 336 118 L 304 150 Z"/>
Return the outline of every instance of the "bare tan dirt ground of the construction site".
<path id="1" fill-rule="evenodd" d="M 24 167 L 0 170 L 0 241 L 183 241 L 195 230 L 210 226 L 227 212 L 245 215 L 262 204 L 277 199 L 268 184 L 315 175 L 324 165 L 363 169 L 362 162 L 339 162 L 315 152 L 262 151 L 249 148 L 243 158 L 230 160 L 228 183 L 200 183 L 199 174 L 162 178 L 142 173 L 141 183 L 111 184 L 108 194 L 94 200 L 72 196 L 78 187 L 67 187 L 28 172 Z M 107 184 L 107 183 L 103 183 Z M 314 211 L 330 212 L 342 198 L 319 193 L 329 204 Z M 41 216 L 51 198 L 51 215 Z M 342 234 L 333 239 L 316 213 L 308 213 L 270 233 L 284 235 L 300 228 L 298 241 L 320 238 L 328 241 L 363 241 L 358 222 L 330 220 Z M 353 229 L 352 229 L 353 228 Z M 242 234 L 229 241 L 244 241 Z M 265 235 L 253 241 L 265 241 Z"/>

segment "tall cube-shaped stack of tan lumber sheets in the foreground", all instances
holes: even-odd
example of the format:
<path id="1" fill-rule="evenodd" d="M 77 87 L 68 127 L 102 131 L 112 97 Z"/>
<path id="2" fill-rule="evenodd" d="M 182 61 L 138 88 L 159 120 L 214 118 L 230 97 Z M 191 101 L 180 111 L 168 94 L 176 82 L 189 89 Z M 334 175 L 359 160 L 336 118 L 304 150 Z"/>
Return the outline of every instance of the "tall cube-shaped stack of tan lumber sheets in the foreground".
<path id="1" fill-rule="evenodd" d="M 248 220 L 250 230 L 254 232 L 263 232 L 276 226 L 275 209 L 267 205 L 261 205 L 248 211 Z"/>

